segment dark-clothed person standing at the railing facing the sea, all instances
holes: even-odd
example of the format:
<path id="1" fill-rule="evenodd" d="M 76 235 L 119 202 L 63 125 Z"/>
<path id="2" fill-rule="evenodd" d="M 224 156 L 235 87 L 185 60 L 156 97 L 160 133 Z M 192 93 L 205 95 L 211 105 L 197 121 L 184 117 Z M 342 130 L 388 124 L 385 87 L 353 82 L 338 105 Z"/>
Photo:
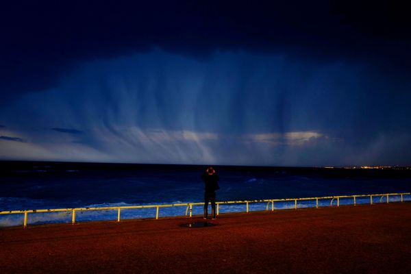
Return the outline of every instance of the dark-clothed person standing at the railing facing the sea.
<path id="1" fill-rule="evenodd" d="M 211 202 L 211 214 L 212 219 L 216 219 L 216 190 L 220 189 L 219 186 L 219 175 L 210 166 L 203 175 L 201 179 L 204 182 L 204 219 L 208 217 L 208 202 Z"/>

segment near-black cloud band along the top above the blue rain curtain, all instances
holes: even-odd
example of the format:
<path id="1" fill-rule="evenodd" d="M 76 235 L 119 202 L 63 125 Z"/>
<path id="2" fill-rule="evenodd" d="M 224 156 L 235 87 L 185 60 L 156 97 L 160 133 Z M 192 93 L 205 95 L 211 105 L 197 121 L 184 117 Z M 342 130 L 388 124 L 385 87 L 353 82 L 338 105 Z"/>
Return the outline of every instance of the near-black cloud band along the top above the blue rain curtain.
<path id="1" fill-rule="evenodd" d="M 1 101 L 58 85 L 82 62 L 151 51 L 276 53 L 410 71 L 399 1 L 9 1 L 0 11 Z"/>

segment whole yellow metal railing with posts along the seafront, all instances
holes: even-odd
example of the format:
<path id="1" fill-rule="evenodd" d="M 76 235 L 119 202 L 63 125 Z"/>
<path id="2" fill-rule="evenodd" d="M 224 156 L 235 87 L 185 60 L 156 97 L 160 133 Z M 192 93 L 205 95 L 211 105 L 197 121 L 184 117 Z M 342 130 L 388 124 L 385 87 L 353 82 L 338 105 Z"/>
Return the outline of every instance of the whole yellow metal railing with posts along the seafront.
<path id="1" fill-rule="evenodd" d="M 336 206 L 340 206 L 340 199 L 353 199 L 353 205 L 357 203 L 357 198 L 359 197 L 369 197 L 370 204 L 373 204 L 373 197 L 379 197 L 379 202 L 382 203 L 383 199 L 386 198 L 386 203 L 389 203 L 390 196 L 401 196 L 401 203 L 403 202 L 404 195 L 411 195 L 410 192 L 403 193 L 385 193 L 385 194 L 367 194 L 367 195 L 342 195 L 342 196 L 327 196 L 327 197 L 311 197 L 311 198 L 288 198 L 288 199 L 263 199 L 263 200 L 251 200 L 251 201 L 218 201 L 216 202 L 216 214 L 220 214 L 220 206 L 233 204 L 233 203 L 245 203 L 246 211 L 249 212 L 249 203 L 267 203 L 266 210 L 269 210 L 271 204 L 271 211 L 273 211 L 274 203 L 294 201 L 294 208 L 297 209 L 297 201 L 316 201 L 316 208 L 319 208 L 319 200 L 331 199 L 329 206 L 332 206 L 333 202 L 336 201 Z M 155 219 L 158 219 L 158 212 L 160 208 L 171 208 L 175 206 L 186 206 L 186 216 L 192 216 L 193 206 L 203 206 L 204 203 L 173 203 L 167 205 L 149 205 L 149 206 L 109 206 L 101 208 L 58 208 L 58 209 L 48 209 L 48 210 L 10 210 L 10 211 L 0 211 L 0 214 L 24 214 L 23 226 L 27 227 L 27 214 L 29 213 L 45 213 L 45 212 L 71 212 L 71 223 L 75 224 L 75 214 L 76 212 L 83 212 L 89 210 L 116 210 L 117 211 L 117 221 L 120 221 L 121 210 L 125 209 L 136 209 L 136 208 L 155 208 Z"/>

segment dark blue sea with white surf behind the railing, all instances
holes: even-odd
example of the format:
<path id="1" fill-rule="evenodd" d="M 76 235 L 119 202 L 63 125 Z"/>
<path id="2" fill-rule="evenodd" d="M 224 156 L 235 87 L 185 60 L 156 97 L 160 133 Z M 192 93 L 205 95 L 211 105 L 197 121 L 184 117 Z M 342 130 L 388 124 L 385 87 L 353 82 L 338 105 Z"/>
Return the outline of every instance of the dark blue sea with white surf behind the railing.
<path id="1" fill-rule="evenodd" d="M 166 205 L 203 201 L 201 174 L 207 166 L 0 161 L 0 211 L 106 206 Z M 411 169 L 325 169 L 270 166 L 214 166 L 220 177 L 217 201 L 290 199 L 410 192 Z M 401 197 L 390 197 L 400 201 Z M 411 201 L 410 195 L 403 197 Z M 341 199 L 340 205 L 353 199 Z M 369 197 L 357 203 L 369 203 Z M 386 198 L 374 197 L 374 203 Z M 330 199 L 319 201 L 329 206 Z M 336 205 L 334 201 L 334 206 Z M 249 211 L 266 210 L 249 203 Z M 275 210 L 294 208 L 276 202 Z M 223 204 L 220 214 L 245 212 L 245 203 Z M 299 201 L 298 208 L 315 207 Z M 202 214 L 194 206 L 192 214 Z M 271 205 L 270 205 L 271 210 Z M 155 208 L 121 210 L 121 219 L 154 218 Z M 186 206 L 159 209 L 159 217 L 185 216 Z M 116 210 L 77 212 L 76 221 L 116 220 Z M 28 224 L 71 223 L 71 212 L 29 213 Z M 0 227 L 23 224 L 23 214 L 0 214 Z"/>

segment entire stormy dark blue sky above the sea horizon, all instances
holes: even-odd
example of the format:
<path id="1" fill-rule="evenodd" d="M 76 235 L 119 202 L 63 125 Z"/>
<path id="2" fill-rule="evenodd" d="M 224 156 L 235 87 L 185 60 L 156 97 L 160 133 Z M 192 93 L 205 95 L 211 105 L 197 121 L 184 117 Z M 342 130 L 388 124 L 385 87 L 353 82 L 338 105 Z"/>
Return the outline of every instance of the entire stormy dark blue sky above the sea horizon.
<path id="1" fill-rule="evenodd" d="M 396 1 L 10 1 L 0 159 L 411 165 Z"/>

